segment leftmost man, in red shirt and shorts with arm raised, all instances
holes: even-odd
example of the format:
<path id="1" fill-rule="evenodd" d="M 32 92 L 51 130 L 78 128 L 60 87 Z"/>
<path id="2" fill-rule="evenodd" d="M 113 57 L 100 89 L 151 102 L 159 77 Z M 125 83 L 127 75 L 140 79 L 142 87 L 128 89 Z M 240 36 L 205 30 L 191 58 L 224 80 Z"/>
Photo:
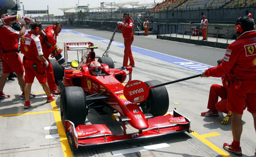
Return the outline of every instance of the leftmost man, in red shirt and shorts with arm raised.
<path id="1" fill-rule="evenodd" d="M 7 17 L 7 16 L 6 16 Z M 20 31 L 15 31 L 11 28 L 11 22 L 2 24 L 0 27 L 0 45 L 1 52 L 0 58 L 2 60 L 3 74 L 0 79 L 0 99 L 9 98 L 10 95 L 3 94 L 3 88 L 5 87 L 6 79 L 9 77 L 9 74 L 14 72 L 17 74 L 19 85 L 22 89 L 25 87 L 24 80 L 24 69 L 22 61 L 20 60 L 19 54 L 16 52 L 18 50 L 18 41 L 17 38 L 20 38 L 24 35 L 26 28 L 26 22 L 24 21 L 23 16 L 19 16 L 19 23 L 21 26 Z M 24 92 L 22 93 L 22 97 Z"/>

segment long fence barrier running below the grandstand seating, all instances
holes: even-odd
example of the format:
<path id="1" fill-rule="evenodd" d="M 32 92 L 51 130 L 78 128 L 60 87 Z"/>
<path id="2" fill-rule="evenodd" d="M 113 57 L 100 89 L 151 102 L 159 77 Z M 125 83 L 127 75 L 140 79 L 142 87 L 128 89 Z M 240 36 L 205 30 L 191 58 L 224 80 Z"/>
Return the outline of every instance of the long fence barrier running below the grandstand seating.
<path id="1" fill-rule="evenodd" d="M 150 12 L 150 9 L 126 9 L 113 12 L 89 12 L 85 16 L 71 14 L 64 16 L 36 17 L 40 22 L 67 21 L 77 23 L 81 21 L 122 21 L 123 12 L 129 12 L 131 18 L 139 18 L 143 21 L 147 18 L 150 22 L 178 22 L 178 23 L 199 23 L 201 16 L 205 15 L 209 23 L 234 23 L 239 16 L 246 16 L 249 12 L 256 15 L 256 7 L 243 7 L 232 9 L 199 9 L 199 10 L 168 10 L 159 12 Z"/>

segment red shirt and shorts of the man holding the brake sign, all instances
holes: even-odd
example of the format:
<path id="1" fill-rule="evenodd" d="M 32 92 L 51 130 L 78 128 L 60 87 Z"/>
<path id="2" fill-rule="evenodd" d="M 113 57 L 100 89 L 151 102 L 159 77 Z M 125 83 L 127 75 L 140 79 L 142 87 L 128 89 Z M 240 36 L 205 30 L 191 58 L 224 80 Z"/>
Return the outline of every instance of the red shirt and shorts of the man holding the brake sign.
<path id="1" fill-rule="evenodd" d="M 245 105 L 256 113 L 256 31 L 247 31 L 230 44 L 221 65 L 205 71 L 208 77 L 231 73 L 228 111 L 243 113 Z"/>

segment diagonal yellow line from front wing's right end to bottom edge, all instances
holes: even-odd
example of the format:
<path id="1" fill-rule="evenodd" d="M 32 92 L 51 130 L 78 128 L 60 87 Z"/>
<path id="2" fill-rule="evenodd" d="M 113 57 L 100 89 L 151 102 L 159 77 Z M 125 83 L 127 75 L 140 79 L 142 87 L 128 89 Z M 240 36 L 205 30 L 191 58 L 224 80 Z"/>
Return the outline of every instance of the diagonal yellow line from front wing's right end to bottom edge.
<path id="1" fill-rule="evenodd" d="M 218 148 L 217 146 L 213 145 L 212 142 L 208 141 L 202 135 L 196 133 L 195 131 L 192 131 L 191 134 L 194 137 L 196 137 L 197 139 L 199 139 L 200 141 L 202 141 L 205 145 L 207 145 L 208 147 L 212 148 L 214 151 L 218 152 L 218 154 L 220 154 L 222 156 L 230 156 L 228 153 L 226 153 L 225 151 L 221 150 L 221 148 Z"/>

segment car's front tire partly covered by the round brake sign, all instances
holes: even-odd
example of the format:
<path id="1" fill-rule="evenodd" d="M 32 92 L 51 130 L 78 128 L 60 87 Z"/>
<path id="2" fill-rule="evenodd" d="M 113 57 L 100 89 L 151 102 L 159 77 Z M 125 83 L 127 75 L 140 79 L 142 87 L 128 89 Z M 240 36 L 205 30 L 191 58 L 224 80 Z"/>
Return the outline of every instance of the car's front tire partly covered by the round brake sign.
<path id="1" fill-rule="evenodd" d="M 149 80 L 145 82 L 148 87 L 161 84 L 159 80 Z M 152 88 L 149 95 L 141 104 L 143 113 L 151 113 L 154 117 L 163 116 L 169 108 L 169 96 L 165 86 Z"/>

